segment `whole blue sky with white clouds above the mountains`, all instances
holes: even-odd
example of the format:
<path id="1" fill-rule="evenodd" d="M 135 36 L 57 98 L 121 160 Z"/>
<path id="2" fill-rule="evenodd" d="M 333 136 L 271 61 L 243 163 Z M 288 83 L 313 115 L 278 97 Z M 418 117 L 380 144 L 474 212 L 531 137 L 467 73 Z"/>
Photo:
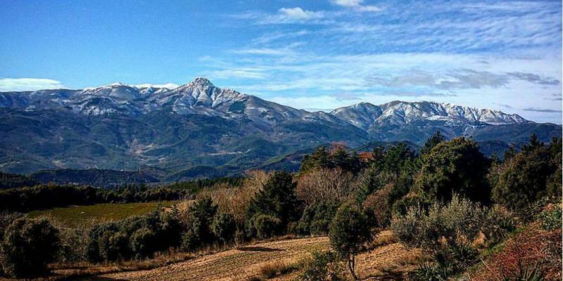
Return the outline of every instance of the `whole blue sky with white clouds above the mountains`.
<path id="1" fill-rule="evenodd" d="M 561 1 L 0 0 L 0 91 L 208 77 L 284 105 L 562 119 Z"/>

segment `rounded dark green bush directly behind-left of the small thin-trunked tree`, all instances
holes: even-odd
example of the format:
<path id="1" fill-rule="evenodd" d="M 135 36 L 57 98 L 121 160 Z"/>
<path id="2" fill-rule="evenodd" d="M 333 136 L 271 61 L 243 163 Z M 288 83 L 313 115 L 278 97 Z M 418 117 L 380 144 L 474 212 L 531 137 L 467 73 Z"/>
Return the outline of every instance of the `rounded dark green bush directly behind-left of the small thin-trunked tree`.
<path id="1" fill-rule="evenodd" d="M 307 235 L 326 235 L 336 210 L 337 202 L 315 202 L 305 207 L 298 223 L 299 233 Z"/>

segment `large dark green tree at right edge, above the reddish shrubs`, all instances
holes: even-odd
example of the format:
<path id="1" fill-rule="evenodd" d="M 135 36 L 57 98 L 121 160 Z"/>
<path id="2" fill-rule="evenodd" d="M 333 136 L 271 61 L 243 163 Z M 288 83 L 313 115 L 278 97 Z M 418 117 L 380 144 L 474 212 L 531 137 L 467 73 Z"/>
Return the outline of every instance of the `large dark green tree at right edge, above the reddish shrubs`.
<path id="1" fill-rule="evenodd" d="M 532 136 L 521 152 L 493 169 L 493 200 L 522 210 L 546 196 L 561 198 L 561 155 L 560 139 L 543 145 Z"/>

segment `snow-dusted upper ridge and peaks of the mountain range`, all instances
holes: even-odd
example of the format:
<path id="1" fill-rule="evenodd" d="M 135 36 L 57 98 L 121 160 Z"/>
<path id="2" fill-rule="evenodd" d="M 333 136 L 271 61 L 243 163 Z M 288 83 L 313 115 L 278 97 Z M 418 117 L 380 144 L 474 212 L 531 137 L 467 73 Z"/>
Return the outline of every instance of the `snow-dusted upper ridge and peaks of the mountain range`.
<path id="1" fill-rule="evenodd" d="M 383 105 L 357 103 L 330 113 L 308 112 L 279 105 L 232 89 L 221 89 L 198 77 L 188 84 L 137 84 L 115 82 L 82 90 L 40 90 L 0 93 L 1 107 L 24 107 L 28 110 L 70 108 L 84 115 L 108 113 L 139 115 L 153 110 L 178 114 L 201 114 L 225 118 L 249 118 L 256 122 L 275 123 L 282 119 L 309 122 L 348 123 L 367 130 L 374 124 L 403 125 L 413 122 L 446 124 L 520 124 L 529 122 L 515 114 L 499 110 L 464 107 L 451 103 L 392 101 Z"/>

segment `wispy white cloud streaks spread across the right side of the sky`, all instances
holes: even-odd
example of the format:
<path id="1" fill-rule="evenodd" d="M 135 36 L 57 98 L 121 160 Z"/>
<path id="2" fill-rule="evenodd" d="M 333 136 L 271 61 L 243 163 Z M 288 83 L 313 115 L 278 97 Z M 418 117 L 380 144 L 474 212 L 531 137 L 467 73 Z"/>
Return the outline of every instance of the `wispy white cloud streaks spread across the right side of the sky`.
<path id="1" fill-rule="evenodd" d="M 229 83 L 296 107 L 424 98 L 536 117 L 524 108 L 561 100 L 557 1 L 327 3 L 248 13 L 262 32 L 209 67 L 260 69 L 267 79 Z"/>

